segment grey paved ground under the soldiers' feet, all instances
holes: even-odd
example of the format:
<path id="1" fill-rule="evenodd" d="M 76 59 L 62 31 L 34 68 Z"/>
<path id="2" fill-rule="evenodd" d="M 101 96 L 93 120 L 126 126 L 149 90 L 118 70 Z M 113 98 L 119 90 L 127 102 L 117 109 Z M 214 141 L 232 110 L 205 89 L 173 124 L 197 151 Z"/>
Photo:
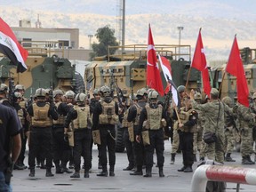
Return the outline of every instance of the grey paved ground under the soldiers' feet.
<path id="1" fill-rule="evenodd" d="M 161 191 L 161 192 L 178 192 L 190 191 L 190 182 L 193 176 L 193 172 L 184 173 L 177 172 L 182 166 L 182 157 L 180 154 L 177 155 L 175 164 L 170 164 L 170 141 L 165 141 L 165 163 L 164 163 L 164 178 L 159 178 L 158 170 L 156 167 L 153 168 L 152 178 L 143 178 L 141 176 L 131 176 L 129 172 L 124 172 L 123 168 L 127 166 L 127 157 L 125 153 L 116 154 L 116 177 L 100 178 L 96 176 L 99 172 L 97 169 L 98 164 L 98 151 L 93 147 L 93 160 L 92 160 L 92 173 L 90 178 L 84 179 L 71 179 L 70 174 L 55 174 L 52 178 L 46 178 L 45 170 L 36 169 L 35 179 L 28 177 L 28 170 L 25 171 L 14 171 L 12 178 L 13 191 Z M 234 166 L 241 166 L 241 157 L 239 153 L 234 153 L 235 163 L 229 163 Z M 156 158 L 155 158 L 156 159 Z M 26 159 L 27 162 L 28 158 Z M 198 162 L 193 165 L 194 170 L 196 169 Z M 255 165 L 247 166 L 250 168 L 256 168 Z M 52 169 L 55 172 L 54 168 Z M 144 171 L 145 172 L 145 171 Z M 83 174 L 81 174 L 83 176 Z M 227 192 L 236 191 L 236 184 L 228 183 Z M 240 191 L 256 191 L 255 186 L 241 185 Z"/>

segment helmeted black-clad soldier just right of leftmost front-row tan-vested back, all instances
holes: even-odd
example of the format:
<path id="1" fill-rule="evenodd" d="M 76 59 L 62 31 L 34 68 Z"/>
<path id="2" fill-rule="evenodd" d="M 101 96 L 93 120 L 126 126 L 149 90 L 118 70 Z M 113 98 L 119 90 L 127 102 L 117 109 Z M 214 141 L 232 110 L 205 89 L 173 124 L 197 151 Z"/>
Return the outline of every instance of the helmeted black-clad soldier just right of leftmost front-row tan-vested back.
<path id="1" fill-rule="evenodd" d="M 62 96 L 63 92 L 61 90 L 53 91 L 54 105 L 59 114 L 58 120 L 53 120 L 52 125 L 52 154 L 57 174 L 63 172 L 71 173 L 67 168 L 70 148 L 68 142 L 64 140 L 64 121 L 69 108 L 65 109 L 67 104 L 62 103 Z"/>

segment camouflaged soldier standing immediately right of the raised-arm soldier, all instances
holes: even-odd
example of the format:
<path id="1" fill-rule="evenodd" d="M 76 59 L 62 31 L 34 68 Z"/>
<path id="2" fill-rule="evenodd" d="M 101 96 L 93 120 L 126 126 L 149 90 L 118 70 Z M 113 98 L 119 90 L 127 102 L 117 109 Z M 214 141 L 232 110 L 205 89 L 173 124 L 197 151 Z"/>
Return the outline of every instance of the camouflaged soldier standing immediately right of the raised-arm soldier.
<path id="1" fill-rule="evenodd" d="M 230 97 L 224 97 L 222 102 L 225 105 L 225 161 L 227 162 L 236 162 L 235 159 L 232 159 L 231 153 L 235 147 L 236 139 L 235 139 L 235 129 L 236 129 L 236 122 L 235 116 L 233 115 L 232 106 L 232 99 Z"/>

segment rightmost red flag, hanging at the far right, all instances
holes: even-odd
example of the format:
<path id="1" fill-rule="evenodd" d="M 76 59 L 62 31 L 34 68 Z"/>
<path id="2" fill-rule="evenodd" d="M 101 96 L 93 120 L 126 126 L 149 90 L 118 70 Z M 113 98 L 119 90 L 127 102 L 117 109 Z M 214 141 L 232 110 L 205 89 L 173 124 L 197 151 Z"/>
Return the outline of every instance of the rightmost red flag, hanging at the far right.
<path id="1" fill-rule="evenodd" d="M 236 36 L 231 48 L 231 52 L 229 54 L 226 71 L 232 76 L 236 76 L 238 102 L 244 105 L 245 107 L 249 107 L 249 90 L 246 82 L 243 61 L 241 59 L 241 55 L 239 52 Z"/>

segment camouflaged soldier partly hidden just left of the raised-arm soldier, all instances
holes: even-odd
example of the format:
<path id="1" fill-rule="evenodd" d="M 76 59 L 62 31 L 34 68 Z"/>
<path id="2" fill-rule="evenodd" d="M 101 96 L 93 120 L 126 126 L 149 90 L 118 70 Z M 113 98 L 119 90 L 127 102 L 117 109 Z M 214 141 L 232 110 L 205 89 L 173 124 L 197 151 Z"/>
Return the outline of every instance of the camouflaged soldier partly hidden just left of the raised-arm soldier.
<path id="1" fill-rule="evenodd" d="M 202 94 L 200 92 L 196 92 L 195 100 L 197 103 L 202 102 Z M 196 153 L 197 151 L 201 152 L 202 150 L 202 140 L 203 140 L 203 132 L 204 132 L 204 114 L 200 110 L 196 110 L 197 112 L 197 120 L 196 120 L 196 130 L 193 136 L 193 154 L 194 154 L 194 162 L 196 162 Z M 200 156 L 201 159 L 202 156 Z"/>

